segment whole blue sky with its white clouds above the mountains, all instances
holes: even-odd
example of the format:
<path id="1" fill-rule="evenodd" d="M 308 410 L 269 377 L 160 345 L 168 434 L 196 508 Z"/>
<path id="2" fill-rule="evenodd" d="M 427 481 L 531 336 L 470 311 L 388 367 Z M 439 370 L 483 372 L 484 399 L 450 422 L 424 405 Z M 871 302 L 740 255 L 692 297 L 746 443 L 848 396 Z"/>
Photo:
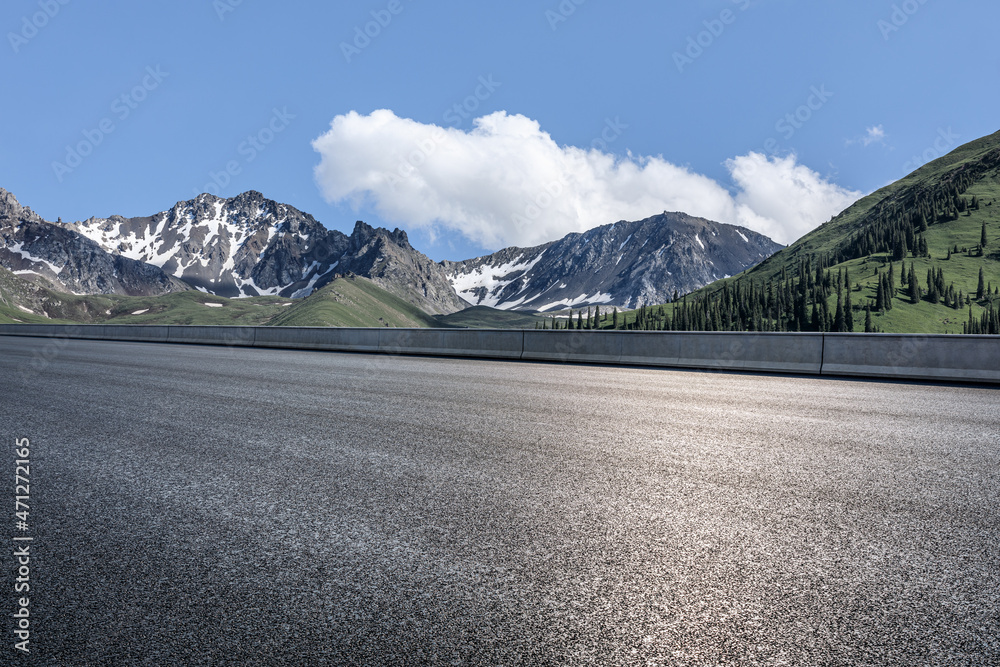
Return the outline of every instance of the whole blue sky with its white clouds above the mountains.
<path id="1" fill-rule="evenodd" d="M 0 187 L 64 221 L 254 189 L 434 259 L 668 207 L 788 242 L 1000 129 L 998 24 L 961 0 L 7 0 Z"/>

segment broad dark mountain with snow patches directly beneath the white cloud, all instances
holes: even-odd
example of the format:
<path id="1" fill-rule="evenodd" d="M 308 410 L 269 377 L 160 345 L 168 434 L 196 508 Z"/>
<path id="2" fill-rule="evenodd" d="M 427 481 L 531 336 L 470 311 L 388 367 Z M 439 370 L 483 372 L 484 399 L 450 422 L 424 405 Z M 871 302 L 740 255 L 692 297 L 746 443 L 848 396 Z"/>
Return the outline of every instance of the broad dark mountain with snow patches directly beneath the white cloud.
<path id="1" fill-rule="evenodd" d="M 782 247 L 743 227 L 664 212 L 442 266 L 472 305 L 540 312 L 638 308 L 736 275 Z"/>

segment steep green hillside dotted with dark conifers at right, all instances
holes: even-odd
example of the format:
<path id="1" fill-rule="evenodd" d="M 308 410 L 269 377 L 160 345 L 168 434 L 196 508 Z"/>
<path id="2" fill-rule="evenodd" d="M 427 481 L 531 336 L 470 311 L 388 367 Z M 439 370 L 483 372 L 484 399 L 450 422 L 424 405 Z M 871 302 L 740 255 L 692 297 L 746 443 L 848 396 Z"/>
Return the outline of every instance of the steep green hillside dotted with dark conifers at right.
<path id="1" fill-rule="evenodd" d="M 915 302 L 905 280 L 911 267 Z M 886 290 L 890 268 L 894 284 Z M 843 308 L 848 298 L 852 317 L 838 318 L 838 302 Z M 637 328 L 836 331 L 853 319 L 851 330 L 864 331 L 868 308 L 875 330 L 962 333 L 970 311 L 975 322 L 995 319 L 998 305 L 1000 132 L 865 197 L 758 266 L 623 321 Z"/>

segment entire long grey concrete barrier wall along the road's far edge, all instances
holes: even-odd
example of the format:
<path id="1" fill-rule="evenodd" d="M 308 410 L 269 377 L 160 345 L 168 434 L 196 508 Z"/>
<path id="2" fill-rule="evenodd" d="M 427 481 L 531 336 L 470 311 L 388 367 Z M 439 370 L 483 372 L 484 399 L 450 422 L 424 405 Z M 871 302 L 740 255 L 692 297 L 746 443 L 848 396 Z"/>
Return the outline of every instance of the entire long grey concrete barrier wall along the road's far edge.
<path id="1" fill-rule="evenodd" d="M 1000 337 L 0 324 L 0 335 L 1000 384 Z"/>

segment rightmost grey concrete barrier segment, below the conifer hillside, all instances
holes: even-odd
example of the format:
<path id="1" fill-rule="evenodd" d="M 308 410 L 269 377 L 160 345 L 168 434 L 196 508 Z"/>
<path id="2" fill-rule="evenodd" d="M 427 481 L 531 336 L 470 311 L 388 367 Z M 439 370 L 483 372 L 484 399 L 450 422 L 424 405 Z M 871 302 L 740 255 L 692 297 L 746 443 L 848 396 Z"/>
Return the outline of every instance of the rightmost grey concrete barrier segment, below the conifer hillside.
<path id="1" fill-rule="evenodd" d="M 827 334 L 823 375 L 1000 383 L 1000 337 Z"/>

